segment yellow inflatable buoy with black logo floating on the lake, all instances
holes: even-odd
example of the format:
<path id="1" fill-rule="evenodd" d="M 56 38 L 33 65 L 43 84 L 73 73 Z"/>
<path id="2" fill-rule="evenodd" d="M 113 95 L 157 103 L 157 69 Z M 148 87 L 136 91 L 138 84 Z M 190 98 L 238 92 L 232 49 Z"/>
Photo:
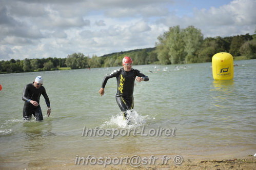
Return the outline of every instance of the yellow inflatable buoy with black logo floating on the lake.
<path id="1" fill-rule="evenodd" d="M 229 53 L 217 53 L 212 56 L 212 76 L 214 80 L 230 80 L 234 77 L 233 56 Z"/>

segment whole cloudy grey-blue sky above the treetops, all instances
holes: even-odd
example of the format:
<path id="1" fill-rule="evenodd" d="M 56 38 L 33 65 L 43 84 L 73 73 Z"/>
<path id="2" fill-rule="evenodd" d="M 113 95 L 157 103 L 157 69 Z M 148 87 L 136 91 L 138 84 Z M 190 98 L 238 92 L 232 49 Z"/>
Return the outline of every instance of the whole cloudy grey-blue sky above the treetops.
<path id="1" fill-rule="evenodd" d="M 0 60 L 155 47 L 169 27 L 254 34 L 256 0 L 0 0 Z"/>

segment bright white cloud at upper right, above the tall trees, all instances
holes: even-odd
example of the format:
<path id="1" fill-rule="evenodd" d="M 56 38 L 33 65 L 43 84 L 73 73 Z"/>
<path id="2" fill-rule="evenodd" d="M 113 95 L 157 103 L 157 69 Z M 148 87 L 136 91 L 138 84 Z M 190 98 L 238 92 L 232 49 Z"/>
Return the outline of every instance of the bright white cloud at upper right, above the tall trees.
<path id="1" fill-rule="evenodd" d="M 157 23 L 164 23 L 167 26 L 180 25 L 182 28 L 193 25 L 201 29 L 204 37 L 253 34 L 256 26 L 254 9 L 256 2 L 253 0 L 235 0 L 220 8 L 193 8 L 192 16 L 170 15 L 161 18 Z"/>

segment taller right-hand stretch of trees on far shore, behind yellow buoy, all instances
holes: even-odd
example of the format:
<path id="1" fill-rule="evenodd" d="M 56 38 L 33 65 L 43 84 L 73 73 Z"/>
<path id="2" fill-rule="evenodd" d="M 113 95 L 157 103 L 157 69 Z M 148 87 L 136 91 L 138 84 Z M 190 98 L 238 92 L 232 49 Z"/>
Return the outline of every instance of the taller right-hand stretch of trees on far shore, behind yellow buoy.
<path id="1" fill-rule="evenodd" d="M 157 58 L 164 65 L 176 63 L 210 62 L 214 54 L 228 52 L 232 56 L 256 58 L 256 29 L 253 35 L 203 38 L 200 29 L 189 26 L 170 27 L 157 38 Z"/>

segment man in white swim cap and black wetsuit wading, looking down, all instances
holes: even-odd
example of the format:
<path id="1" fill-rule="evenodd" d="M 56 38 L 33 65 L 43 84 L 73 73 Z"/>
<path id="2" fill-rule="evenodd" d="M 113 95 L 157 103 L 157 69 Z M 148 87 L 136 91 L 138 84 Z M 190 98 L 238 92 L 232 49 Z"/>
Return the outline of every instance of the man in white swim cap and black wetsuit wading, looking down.
<path id="1" fill-rule="evenodd" d="M 43 77 L 37 76 L 33 83 L 27 84 L 23 91 L 22 99 L 25 101 L 23 107 L 23 119 L 29 120 L 34 115 L 36 121 L 43 120 L 43 114 L 39 105 L 41 94 L 45 98 L 48 107 L 47 115 L 51 114 L 50 100 L 43 85 Z"/>

